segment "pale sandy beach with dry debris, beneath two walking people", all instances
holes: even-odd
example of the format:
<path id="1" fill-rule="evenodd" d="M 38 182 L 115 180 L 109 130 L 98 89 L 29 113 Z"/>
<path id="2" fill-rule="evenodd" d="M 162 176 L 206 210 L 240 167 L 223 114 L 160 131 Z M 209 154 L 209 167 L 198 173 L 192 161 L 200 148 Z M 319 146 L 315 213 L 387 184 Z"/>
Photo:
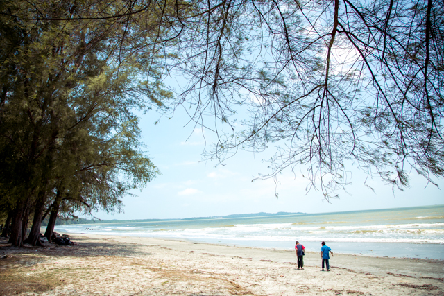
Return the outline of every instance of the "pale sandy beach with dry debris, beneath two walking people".
<path id="1" fill-rule="evenodd" d="M 444 295 L 444 261 L 334 254 L 322 272 L 318 250 L 297 270 L 289 250 L 71 239 L 76 245 L 17 248 L 1 238 L 0 295 Z"/>

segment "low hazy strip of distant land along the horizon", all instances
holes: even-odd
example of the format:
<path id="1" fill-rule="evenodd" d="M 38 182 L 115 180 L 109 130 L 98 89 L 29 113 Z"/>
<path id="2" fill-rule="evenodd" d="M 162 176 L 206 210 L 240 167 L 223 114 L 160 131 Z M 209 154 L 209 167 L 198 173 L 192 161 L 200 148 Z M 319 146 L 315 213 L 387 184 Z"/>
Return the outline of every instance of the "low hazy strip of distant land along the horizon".
<path id="1" fill-rule="evenodd" d="M 264 213 L 263 211 L 260 213 L 253 214 L 232 214 L 227 216 L 208 216 L 208 217 L 193 217 L 193 218 L 181 218 L 181 219 L 135 219 L 135 220 L 101 220 L 101 219 L 85 219 L 85 218 L 77 218 L 77 219 L 68 219 L 62 220 L 57 219 L 56 225 L 67 225 L 67 224 L 92 224 L 92 223 L 135 223 L 135 222 L 153 222 L 153 221 L 180 221 L 180 220 L 205 220 L 205 219 L 227 219 L 227 218 L 254 218 L 254 217 L 266 217 L 266 216 L 288 216 L 288 215 L 298 215 L 305 214 L 302 212 L 290 213 L 287 211 L 278 211 L 278 213 Z M 46 226 L 47 219 L 42 222 L 42 226 Z"/>

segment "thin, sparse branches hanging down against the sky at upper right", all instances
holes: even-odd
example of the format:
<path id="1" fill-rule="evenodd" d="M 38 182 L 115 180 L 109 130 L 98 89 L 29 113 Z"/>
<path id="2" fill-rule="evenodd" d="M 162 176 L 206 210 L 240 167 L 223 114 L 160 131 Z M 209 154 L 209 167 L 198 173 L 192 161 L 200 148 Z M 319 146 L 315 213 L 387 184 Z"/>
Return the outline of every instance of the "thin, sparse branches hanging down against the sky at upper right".
<path id="1" fill-rule="evenodd" d="M 275 145 L 264 177 L 308 171 L 325 198 L 352 162 L 400 189 L 443 177 L 442 1 L 190 3 L 174 103 L 217 132 L 208 157 Z"/>

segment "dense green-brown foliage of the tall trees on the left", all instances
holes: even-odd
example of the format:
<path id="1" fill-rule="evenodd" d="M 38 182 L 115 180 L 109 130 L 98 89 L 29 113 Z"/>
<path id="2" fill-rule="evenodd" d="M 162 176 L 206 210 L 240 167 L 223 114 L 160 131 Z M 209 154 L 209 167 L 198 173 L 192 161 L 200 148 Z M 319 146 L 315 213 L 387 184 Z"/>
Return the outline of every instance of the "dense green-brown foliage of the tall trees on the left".
<path id="1" fill-rule="evenodd" d="M 171 97 L 156 48 L 159 9 L 145 1 L 1 2 L 2 209 L 31 206 L 43 190 L 48 207 L 61 191 L 68 213 L 119 211 L 129 189 L 159 173 L 142 152 L 134 114 Z"/>

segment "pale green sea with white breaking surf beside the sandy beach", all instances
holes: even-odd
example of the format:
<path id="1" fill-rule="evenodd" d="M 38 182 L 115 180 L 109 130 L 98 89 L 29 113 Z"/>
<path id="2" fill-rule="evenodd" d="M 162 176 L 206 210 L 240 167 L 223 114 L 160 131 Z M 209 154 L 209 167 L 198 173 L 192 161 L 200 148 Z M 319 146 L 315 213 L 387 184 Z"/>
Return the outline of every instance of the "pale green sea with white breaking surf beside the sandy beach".
<path id="1" fill-rule="evenodd" d="M 112 221 L 60 225 L 56 232 L 169 238 L 293 250 L 444 260 L 444 205 L 249 218 Z"/>

